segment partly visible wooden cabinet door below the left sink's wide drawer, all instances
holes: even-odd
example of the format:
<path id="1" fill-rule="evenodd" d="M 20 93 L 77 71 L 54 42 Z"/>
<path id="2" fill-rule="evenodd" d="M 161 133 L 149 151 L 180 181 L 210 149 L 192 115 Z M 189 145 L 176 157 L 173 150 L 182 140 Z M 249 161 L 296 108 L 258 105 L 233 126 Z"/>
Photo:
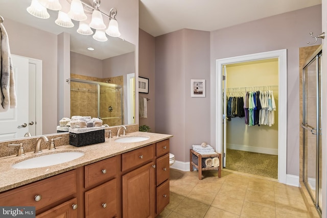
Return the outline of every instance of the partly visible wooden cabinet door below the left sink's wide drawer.
<path id="1" fill-rule="evenodd" d="M 77 199 L 74 198 L 54 207 L 36 218 L 77 218 Z"/>

